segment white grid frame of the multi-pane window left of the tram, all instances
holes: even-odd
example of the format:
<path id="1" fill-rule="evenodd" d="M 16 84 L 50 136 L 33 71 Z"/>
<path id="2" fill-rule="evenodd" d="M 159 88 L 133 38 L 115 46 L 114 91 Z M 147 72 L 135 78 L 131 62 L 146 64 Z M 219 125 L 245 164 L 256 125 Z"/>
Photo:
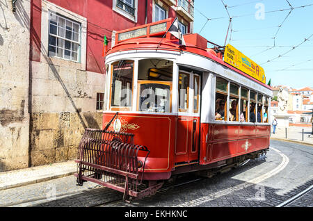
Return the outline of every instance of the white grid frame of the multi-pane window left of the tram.
<path id="1" fill-rule="evenodd" d="M 55 16 L 56 17 L 56 19 L 58 21 L 57 25 L 51 24 L 51 16 Z M 59 23 L 60 18 L 64 19 L 64 21 L 65 21 L 65 27 L 63 28 L 64 29 L 64 37 L 61 36 L 61 35 L 58 35 L 58 30 L 59 30 L 58 23 Z M 70 31 L 66 27 L 67 22 L 72 23 L 71 39 L 66 38 L 66 31 Z M 79 26 L 78 32 L 73 31 L 74 24 Z M 51 33 L 50 25 L 56 26 L 56 34 Z M 51 56 L 51 55 L 49 55 L 49 47 L 51 46 L 51 47 L 55 47 L 56 48 L 55 55 L 51 56 L 51 57 L 57 57 L 57 58 L 65 59 L 65 60 L 72 60 L 74 62 L 79 62 L 80 61 L 80 45 L 81 45 L 80 44 L 80 37 L 81 37 L 80 32 L 81 32 L 81 24 L 80 23 L 74 22 L 71 19 L 67 19 L 67 17 L 64 17 L 63 15 L 58 15 L 57 13 L 54 13 L 53 11 L 49 11 L 49 38 L 50 38 L 50 36 L 56 38 L 56 44 L 55 45 L 51 45 L 51 44 L 49 44 L 49 40 L 48 40 L 48 56 Z M 78 34 L 77 41 L 72 40 L 74 33 Z M 58 38 L 63 40 L 63 47 L 58 47 Z M 70 49 L 66 49 L 65 48 L 65 40 L 67 42 L 70 42 Z M 77 51 L 72 50 L 73 44 L 77 44 Z M 63 56 L 62 57 L 58 56 L 58 48 L 63 50 Z M 70 51 L 70 58 L 65 58 L 65 50 L 66 51 Z M 73 53 L 77 54 L 77 59 L 76 60 L 72 59 L 72 54 Z"/>

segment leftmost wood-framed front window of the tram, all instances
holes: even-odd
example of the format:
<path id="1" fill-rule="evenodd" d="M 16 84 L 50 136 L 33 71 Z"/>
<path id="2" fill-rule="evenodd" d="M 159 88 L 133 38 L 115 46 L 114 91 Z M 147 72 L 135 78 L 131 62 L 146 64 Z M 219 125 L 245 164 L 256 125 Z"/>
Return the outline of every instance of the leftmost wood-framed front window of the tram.
<path id="1" fill-rule="evenodd" d="M 120 60 L 112 65 L 111 107 L 129 110 L 132 101 L 134 62 Z M 116 108 L 119 107 L 119 108 Z"/>

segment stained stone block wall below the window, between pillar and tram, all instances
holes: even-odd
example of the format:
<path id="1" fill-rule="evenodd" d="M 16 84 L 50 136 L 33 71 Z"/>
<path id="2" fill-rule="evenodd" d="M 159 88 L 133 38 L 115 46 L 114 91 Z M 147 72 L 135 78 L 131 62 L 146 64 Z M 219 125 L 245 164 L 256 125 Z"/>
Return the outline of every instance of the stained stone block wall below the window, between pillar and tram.
<path id="1" fill-rule="evenodd" d="M 104 92 L 105 75 L 69 62 L 31 62 L 31 166 L 77 158 L 84 129 L 102 128 L 96 98 Z"/>

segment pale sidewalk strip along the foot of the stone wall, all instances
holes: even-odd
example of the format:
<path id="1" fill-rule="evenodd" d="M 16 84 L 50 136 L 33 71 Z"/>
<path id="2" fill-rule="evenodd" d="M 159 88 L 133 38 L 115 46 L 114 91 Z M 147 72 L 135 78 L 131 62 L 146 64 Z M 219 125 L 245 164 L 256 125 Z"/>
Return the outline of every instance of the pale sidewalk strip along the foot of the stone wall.
<path id="1" fill-rule="evenodd" d="M 74 172 L 77 172 L 77 163 L 74 161 L 0 172 L 0 190 L 70 176 Z"/>

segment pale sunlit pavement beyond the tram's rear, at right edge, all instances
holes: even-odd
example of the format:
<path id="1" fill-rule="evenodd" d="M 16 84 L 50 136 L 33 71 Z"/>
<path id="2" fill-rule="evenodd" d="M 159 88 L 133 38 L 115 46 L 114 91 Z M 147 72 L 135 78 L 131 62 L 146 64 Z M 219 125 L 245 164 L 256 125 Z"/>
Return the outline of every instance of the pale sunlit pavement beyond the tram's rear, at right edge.
<path id="1" fill-rule="evenodd" d="M 304 132 L 303 134 L 302 131 Z M 275 132 L 276 133 L 274 134 L 273 128 L 271 128 L 271 138 L 273 138 L 273 140 L 284 140 L 298 142 L 305 145 L 313 145 L 313 135 L 311 134 L 312 126 L 289 126 L 289 128 L 287 128 L 287 138 L 285 128 L 276 128 Z"/>

